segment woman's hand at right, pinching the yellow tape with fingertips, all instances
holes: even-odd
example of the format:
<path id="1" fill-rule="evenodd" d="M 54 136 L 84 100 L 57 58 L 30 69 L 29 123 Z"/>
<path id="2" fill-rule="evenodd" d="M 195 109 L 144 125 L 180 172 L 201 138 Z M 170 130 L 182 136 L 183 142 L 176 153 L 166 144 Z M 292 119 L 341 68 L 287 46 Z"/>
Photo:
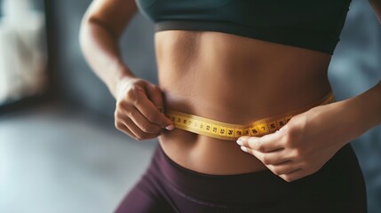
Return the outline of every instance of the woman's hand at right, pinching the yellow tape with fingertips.
<path id="1" fill-rule="evenodd" d="M 353 108 L 343 102 L 316 106 L 292 117 L 281 130 L 261 138 L 244 136 L 237 143 L 288 182 L 306 177 L 357 136 L 351 127 Z"/>

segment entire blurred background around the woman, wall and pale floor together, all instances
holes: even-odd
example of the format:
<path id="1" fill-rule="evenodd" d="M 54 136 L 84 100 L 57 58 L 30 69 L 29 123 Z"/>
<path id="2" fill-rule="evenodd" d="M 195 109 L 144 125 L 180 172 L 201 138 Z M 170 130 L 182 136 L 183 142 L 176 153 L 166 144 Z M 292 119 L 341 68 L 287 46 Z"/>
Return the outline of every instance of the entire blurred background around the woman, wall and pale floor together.
<path id="1" fill-rule="evenodd" d="M 115 130 L 115 100 L 83 59 L 78 31 L 90 3 L 0 0 L 2 213 L 112 212 L 150 160 L 156 141 Z M 137 14 L 121 45 L 131 69 L 156 83 L 153 35 Z M 368 1 L 353 0 L 329 79 L 338 100 L 381 79 L 381 25 Z M 381 127 L 353 147 L 369 213 L 380 212 Z"/>

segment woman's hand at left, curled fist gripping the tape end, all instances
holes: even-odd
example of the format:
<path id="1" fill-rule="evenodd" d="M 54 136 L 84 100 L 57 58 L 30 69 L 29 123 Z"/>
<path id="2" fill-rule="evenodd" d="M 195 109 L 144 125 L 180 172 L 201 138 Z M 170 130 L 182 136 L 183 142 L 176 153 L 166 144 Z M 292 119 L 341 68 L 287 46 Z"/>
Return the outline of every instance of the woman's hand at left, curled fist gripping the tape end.
<path id="1" fill-rule="evenodd" d="M 173 130 L 163 108 L 163 92 L 143 79 L 125 77 L 118 83 L 115 108 L 115 127 L 132 138 L 156 138 L 163 130 Z"/>

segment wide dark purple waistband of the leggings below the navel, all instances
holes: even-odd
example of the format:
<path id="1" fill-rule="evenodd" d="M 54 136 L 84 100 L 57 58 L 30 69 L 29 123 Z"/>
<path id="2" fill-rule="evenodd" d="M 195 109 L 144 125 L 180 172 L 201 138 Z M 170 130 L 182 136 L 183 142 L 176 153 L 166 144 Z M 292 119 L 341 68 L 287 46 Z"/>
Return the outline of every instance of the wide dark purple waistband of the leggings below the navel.
<path id="1" fill-rule="evenodd" d="M 270 170 L 260 170 L 234 175 L 210 175 L 188 170 L 164 153 L 160 144 L 155 150 L 150 175 L 166 181 L 173 190 L 189 196 L 191 199 L 220 203 L 250 201 L 277 201 L 306 190 L 306 185 L 317 185 L 314 190 L 325 190 L 329 185 L 340 185 L 340 182 L 357 168 L 357 158 L 348 144 L 340 149 L 321 170 L 311 176 L 288 183 Z M 328 189 L 327 189 L 328 190 Z M 239 197 L 239 201 L 237 201 Z"/>

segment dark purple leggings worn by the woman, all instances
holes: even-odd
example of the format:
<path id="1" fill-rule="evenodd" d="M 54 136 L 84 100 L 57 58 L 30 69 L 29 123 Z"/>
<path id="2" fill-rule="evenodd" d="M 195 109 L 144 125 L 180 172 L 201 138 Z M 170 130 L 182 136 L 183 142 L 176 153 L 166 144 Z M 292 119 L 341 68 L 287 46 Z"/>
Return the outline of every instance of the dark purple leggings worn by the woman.
<path id="1" fill-rule="evenodd" d="M 159 145 L 138 184 L 115 210 L 147 212 L 367 212 L 364 179 L 350 145 L 315 174 L 288 183 L 270 170 L 207 175 L 173 162 Z"/>

